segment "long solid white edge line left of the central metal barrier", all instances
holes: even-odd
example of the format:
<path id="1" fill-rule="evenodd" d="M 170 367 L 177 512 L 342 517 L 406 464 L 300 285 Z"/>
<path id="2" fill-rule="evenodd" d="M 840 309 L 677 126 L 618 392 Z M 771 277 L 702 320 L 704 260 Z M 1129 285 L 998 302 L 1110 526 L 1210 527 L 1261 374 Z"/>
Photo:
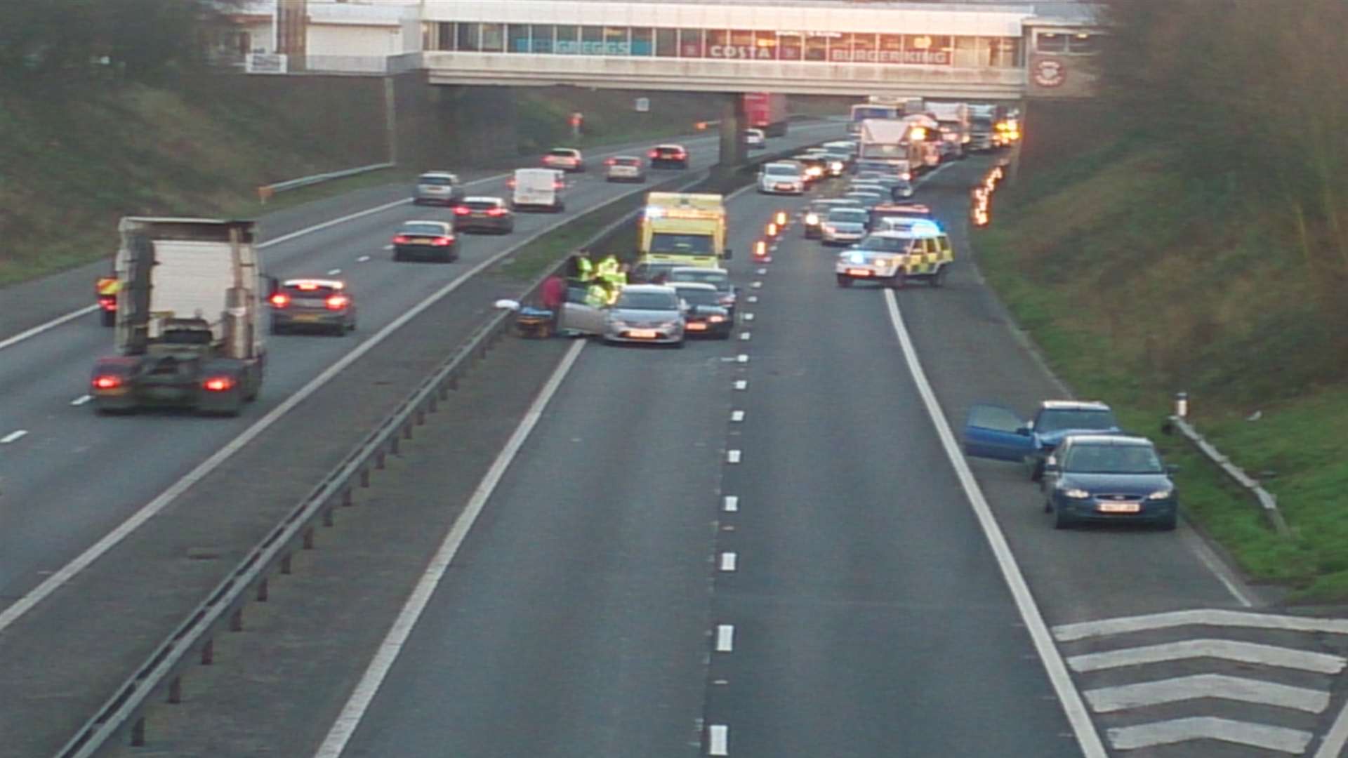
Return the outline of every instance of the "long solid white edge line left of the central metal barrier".
<path id="1" fill-rule="evenodd" d="M 617 196 L 617 198 L 627 196 Z M 617 198 L 613 198 L 616 202 Z M 600 204 L 596 208 L 601 208 L 605 204 Z M 390 334 L 400 329 L 404 324 L 419 316 L 427 308 L 435 305 L 446 295 L 464 286 L 469 279 L 480 274 L 481 271 L 495 266 L 507 255 L 511 255 L 516 250 L 532 243 L 534 240 L 547 235 L 553 229 L 561 227 L 569 221 L 569 218 L 557 220 L 547 227 L 534 232 L 526 239 L 516 241 L 515 244 L 492 254 L 485 260 L 477 263 L 472 268 L 464 271 L 454 281 L 446 283 L 439 290 L 434 291 L 426 299 L 407 309 L 402 316 L 394 318 L 383 329 L 375 332 L 368 340 L 357 344 L 350 352 L 342 355 L 336 363 L 329 366 L 319 374 L 309 380 L 303 387 L 297 390 L 293 395 L 282 401 L 276 407 L 271 409 L 267 415 L 259 418 L 252 426 L 245 429 L 241 434 L 226 442 L 222 448 L 217 449 L 206 460 L 197 464 L 195 468 L 189 471 L 182 479 L 174 482 L 167 490 L 160 492 L 154 500 L 150 500 L 140 507 L 135 514 L 132 514 L 127 521 L 117 525 L 116 529 L 104 534 L 97 542 L 85 549 L 84 553 L 75 556 L 69 564 L 61 566 L 58 571 L 53 572 L 40 584 L 32 588 L 31 592 L 15 600 L 8 608 L 0 611 L 0 633 L 9 627 L 13 622 L 19 620 L 24 614 L 32 610 L 34 606 L 40 603 L 49 595 L 55 592 L 61 585 L 70 581 L 71 577 L 78 575 L 81 571 L 93 564 L 98 557 L 111 550 L 115 545 L 127 538 L 128 534 L 140 529 L 143 523 L 154 518 L 159 511 L 166 508 L 168 503 L 177 499 L 179 495 L 186 492 L 191 486 L 205 479 L 212 471 L 225 463 L 231 456 L 244 448 L 248 442 L 256 438 L 259 434 L 266 432 L 272 424 L 280 419 L 280 417 L 290 413 L 297 405 L 307 399 L 310 395 L 317 392 L 324 384 L 330 382 L 334 376 L 341 374 L 348 366 L 360 360 L 367 352 L 375 349 L 380 343 L 388 339 Z"/>

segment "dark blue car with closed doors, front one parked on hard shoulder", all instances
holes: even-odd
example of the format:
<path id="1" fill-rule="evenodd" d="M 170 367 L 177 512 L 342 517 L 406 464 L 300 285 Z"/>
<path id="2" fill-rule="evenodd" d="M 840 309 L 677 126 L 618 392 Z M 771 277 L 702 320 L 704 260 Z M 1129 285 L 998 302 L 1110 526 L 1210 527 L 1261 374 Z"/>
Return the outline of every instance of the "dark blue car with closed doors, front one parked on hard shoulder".
<path id="1" fill-rule="evenodd" d="M 1180 515 L 1171 471 L 1143 437 L 1073 434 L 1045 465 L 1043 510 L 1055 529 L 1144 522 L 1170 530 Z"/>

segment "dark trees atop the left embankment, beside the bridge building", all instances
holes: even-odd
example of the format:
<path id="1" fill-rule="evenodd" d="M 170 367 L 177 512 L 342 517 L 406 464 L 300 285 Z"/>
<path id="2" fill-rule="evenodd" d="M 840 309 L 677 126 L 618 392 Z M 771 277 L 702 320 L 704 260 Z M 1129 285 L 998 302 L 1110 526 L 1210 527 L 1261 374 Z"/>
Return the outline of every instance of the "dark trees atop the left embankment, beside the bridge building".
<path id="1" fill-rule="evenodd" d="M 3 0 L 0 82 L 148 81 L 205 62 L 245 0 Z"/>

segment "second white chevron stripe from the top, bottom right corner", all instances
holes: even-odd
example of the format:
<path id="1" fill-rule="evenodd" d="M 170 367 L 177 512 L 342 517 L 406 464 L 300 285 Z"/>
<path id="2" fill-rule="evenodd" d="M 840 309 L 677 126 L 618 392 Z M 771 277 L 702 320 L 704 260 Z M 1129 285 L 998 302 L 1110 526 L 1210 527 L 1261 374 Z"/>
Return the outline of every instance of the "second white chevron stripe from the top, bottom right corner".
<path id="1" fill-rule="evenodd" d="M 1225 661 L 1301 669 L 1322 674 L 1336 674 L 1344 669 L 1344 665 L 1348 665 L 1348 658 L 1343 655 L 1278 647 L 1259 642 L 1239 642 L 1235 639 L 1184 639 L 1161 645 L 1144 645 L 1142 647 L 1124 647 L 1105 653 L 1085 653 L 1069 657 L 1068 665 L 1074 672 L 1097 672 L 1101 669 L 1140 666 L 1185 658 L 1223 658 Z"/>

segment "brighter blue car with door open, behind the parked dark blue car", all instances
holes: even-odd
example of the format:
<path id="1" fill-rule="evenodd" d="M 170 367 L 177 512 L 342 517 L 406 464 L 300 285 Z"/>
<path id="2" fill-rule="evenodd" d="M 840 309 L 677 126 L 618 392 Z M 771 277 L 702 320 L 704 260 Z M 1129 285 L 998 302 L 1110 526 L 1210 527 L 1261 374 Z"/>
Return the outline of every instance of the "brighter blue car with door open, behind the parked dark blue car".
<path id="1" fill-rule="evenodd" d="M 1030 421 L 1011 409 L 976 405 L 964 426 L 964 455 L 1024 463 L 1030 479 L 1043 475 L 1043 461 L 1068 434 L 1120 433 L 1109 406 L 1093 401 L 1043 401 Z"/>

